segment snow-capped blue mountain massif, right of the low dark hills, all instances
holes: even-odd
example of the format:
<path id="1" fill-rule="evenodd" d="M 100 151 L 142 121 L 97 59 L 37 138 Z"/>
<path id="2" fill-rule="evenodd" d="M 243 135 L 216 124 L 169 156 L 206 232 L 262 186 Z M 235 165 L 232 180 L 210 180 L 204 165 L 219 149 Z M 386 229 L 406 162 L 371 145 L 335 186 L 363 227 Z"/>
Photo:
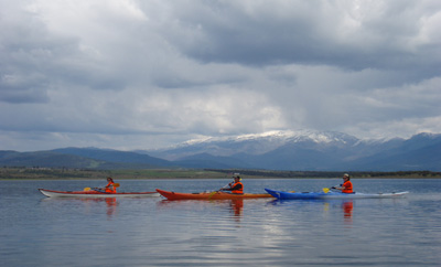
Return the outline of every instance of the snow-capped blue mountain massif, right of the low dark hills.
<path id="1" fill-rule="evenodd" d="M 441 135 L 362 140 L 335 131 L 270 131 L 191 140 L 148 153 L 191 168 L 441 170 Z"/>

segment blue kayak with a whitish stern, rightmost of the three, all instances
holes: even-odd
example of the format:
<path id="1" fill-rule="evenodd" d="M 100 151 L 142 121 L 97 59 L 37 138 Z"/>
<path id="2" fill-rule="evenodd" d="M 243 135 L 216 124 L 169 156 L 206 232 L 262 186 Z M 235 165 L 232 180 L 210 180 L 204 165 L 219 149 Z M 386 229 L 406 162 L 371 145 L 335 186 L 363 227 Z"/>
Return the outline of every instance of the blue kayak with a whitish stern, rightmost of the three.
<path id="1" fill-rule="evenodd" d="M 327 200 L 327 199 L 390 199 L 390 197 L 399 197 L 409 192 L 398 192 L 398 193 L 376 193 L 376 194 L 366 194 L 366 193 L 341 193 L 341 192 L 286 192 L 286 191 L 277 191 L 265 189 L 268 193 L 279 200 Z"/>

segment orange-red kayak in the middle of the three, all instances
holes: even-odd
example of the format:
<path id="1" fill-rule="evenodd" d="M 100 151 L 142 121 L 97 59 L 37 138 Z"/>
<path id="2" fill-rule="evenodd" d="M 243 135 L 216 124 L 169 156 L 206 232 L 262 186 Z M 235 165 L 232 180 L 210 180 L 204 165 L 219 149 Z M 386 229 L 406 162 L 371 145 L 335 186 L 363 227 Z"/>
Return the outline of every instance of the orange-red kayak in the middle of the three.
<path id="1" fill-rule="evenodd" d="M 243 199 L 261 199 L 261 197 L 272 197 L 270 194 L 233 194 L 227 192 L 202 192 L 202 193 L 178 193 L 171 191 L 164 191 L 157 189 L 160 193 L 168 200 L 243 200 Z"/>

